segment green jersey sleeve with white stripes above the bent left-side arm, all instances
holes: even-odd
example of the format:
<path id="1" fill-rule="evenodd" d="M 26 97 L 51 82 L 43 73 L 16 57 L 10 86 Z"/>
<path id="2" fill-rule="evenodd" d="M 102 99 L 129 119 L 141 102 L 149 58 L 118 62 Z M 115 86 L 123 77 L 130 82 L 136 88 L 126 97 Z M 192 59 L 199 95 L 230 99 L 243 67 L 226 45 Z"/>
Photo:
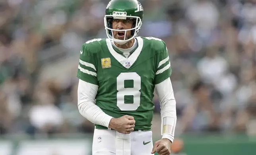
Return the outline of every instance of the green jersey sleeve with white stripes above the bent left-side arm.
<path id="1" fill-rule="evenodd" d="M 90 50 L 93 49 L 84 43 L 80 51 L 77 77 L 88 83 L 98 85 L 97 59 L 95 59 L 95 55 Z"/>

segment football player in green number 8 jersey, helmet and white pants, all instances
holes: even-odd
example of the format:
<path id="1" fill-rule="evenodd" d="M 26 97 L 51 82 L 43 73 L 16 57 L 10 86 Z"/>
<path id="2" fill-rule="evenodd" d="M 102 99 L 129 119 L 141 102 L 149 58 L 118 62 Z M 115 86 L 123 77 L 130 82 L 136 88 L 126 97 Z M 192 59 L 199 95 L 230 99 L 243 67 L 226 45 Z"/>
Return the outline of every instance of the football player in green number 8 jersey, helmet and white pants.
<path id="1" fill-rule="evenodd" d="M 111 0 L 104 17 L 107 38 L 89 40 L 81 48 L 78 108 L 95 124 L 93 155 L 171 153 L 176 125 L 171 64 L 165 42 L 137 37 L 143 15 L 137 0 Z M 154 90 L 162 139 L 153 146 Z"/>

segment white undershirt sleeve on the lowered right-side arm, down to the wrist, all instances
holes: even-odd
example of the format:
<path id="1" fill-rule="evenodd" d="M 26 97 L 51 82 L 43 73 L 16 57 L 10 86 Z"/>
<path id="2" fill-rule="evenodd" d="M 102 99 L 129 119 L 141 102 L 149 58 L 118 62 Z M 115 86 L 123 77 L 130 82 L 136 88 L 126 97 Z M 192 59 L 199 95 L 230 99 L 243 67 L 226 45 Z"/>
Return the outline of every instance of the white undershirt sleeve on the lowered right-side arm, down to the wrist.
<path id="1" fill-rule="evenodd" d="M 161 135 L 173 142 L 176 126 L 176 101 L 173 93 L 171 79 L 155 85 L 161 108 Z"/>

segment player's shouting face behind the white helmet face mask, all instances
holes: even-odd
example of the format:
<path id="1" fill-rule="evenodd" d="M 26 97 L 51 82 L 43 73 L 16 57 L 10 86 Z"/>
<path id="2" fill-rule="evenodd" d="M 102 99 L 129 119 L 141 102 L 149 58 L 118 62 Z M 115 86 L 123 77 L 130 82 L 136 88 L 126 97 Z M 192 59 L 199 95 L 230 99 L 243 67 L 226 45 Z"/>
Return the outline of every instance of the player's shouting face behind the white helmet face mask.
<path id="1" fill-rule="evenodd" d="M 131 29 L 133 21 L 131 19 L 114 19 L 112 21 L 112 28 L 116 30 L 127 30 Z M 116 39 L 124 40 L 125 31 L 113 31 L 113 36 Z M 132 32 L 127 31 L 125 39 L 128 40 L 132 37 Z"/>

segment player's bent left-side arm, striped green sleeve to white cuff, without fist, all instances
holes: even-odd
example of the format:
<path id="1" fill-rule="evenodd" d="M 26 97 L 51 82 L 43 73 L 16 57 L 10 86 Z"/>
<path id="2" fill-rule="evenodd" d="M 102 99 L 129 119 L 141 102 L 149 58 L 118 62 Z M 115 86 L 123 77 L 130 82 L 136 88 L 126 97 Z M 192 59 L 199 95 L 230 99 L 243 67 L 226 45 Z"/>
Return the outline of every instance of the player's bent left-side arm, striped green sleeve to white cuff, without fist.
<path id="1" fill-rule="evenodd" d="M 90 50 L 93 49 L 87 47 L 85 43 L 80 51 L 77 73 L 79 78 L 78 109 L 81 115 L 92 123 L 109 127 L 112 117 L 95 105 L 95 96 L 98 91 L 97 59 L 95 59 L 95 55 Z"/>

